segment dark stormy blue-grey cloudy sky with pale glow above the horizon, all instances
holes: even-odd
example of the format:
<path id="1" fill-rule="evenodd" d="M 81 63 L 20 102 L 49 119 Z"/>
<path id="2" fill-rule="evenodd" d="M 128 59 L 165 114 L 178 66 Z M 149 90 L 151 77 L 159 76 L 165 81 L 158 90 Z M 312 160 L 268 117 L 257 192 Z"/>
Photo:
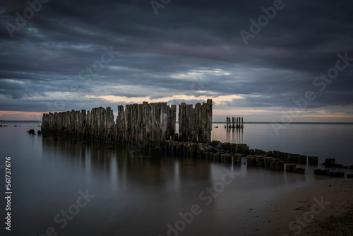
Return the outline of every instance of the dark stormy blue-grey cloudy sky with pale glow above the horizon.
<path id="1" fill-rule="evenodd" d="M 0 119 L 212 98 L 216 122 L 353 122 L 353 1 L 0 0 L 0 22 Z"/>

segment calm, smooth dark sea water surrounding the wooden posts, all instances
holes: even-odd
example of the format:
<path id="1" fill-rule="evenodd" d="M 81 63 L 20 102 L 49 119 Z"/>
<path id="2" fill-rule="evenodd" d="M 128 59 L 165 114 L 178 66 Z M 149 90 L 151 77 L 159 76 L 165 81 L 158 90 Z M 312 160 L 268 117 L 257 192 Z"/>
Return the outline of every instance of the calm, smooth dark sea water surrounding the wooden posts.
<path id="1" fill-rule="evenodd" d="M 0 127 L 1 195 L 6 156 L 13 192 L 11 232 L 1 223 L 6 235 L 268 235 L 263 222 L 270 204 L 320 179 L 314 167 L 296 175 L 193 158 L 148 158 L 124 147 L 27 134 L 40 129 L 39 123 L 6 125 Z M 241 133 L 214 126 L 219 128 L 213 139 L 220 141 L 353 164 L 352 125 L 291 124 L 280 136 L 270 124 L 245 124 Z M 5 205 L 1 197 L 3 220 Z"/>

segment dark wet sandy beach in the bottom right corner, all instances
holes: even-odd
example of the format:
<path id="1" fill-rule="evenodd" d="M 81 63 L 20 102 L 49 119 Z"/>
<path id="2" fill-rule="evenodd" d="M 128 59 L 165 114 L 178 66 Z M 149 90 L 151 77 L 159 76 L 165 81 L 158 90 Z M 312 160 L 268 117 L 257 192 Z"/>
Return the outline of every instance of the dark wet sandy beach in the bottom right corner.
<path id="1" fill-rule="evenodd" d="M 353 179 L 316 181 L 268 204 L 268 235 L 353 235 Z"/>

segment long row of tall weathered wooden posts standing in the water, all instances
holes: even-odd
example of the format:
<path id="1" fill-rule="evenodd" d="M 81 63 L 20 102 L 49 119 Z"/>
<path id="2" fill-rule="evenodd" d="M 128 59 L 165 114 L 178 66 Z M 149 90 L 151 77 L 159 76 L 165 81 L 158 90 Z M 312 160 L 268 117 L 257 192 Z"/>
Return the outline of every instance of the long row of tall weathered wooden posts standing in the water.
<path id="1" fill-rule="evenodd" d="M 179 136 L 176 133 L 177 105 L 167 102 L 118 105 L 114 122 L 110 107 L 91 111 L 67 111 L 43 114 L 42 131 L 56 135 L 92 138 L 107 143 L 164 143 L 167 140 L 210 141 L 212 100 L 179 105 Z"/>

